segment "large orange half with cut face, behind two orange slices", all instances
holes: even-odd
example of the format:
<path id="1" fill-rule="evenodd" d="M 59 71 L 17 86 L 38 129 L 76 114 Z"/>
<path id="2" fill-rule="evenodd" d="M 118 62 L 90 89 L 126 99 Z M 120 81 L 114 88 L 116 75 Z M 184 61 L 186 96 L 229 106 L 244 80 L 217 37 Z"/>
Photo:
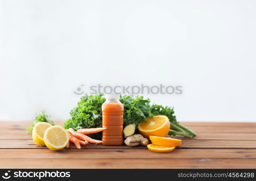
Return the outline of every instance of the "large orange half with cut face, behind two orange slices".
<path id="1" fill-rule="evenodd" d="M 166 137 L 170 130 L 169 118 L 165 115 L 155 115 L 153 118 L 147 118 L 147 122 L 140 123 L 138 129 L 141 135 L 149 139 L 149 136 Z"/>

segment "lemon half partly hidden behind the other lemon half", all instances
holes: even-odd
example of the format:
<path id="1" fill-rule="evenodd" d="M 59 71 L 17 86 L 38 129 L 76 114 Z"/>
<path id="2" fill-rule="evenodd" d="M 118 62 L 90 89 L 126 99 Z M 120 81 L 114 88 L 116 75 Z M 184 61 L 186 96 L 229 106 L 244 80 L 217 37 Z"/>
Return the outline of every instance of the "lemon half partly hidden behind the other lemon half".
<path id="1" fill-rule="evenodd" d="M 38 144 L 39 146 L 45 146 L 44 143 L 44 132 L 48 127 L 52 125 L 47 122 L 39 122 L 33 128 L 32 131 L 32 139 L 33 141 Z"/>

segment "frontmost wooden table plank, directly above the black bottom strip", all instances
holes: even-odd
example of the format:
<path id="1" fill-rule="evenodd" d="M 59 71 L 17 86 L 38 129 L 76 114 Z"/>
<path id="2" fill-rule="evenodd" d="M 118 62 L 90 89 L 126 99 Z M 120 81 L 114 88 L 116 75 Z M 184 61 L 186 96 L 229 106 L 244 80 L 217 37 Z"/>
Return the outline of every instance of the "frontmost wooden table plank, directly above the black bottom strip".
<path id="1" fill-rule="evenodd" d="M 0 159 L 0 168 L 255 168 L 256 159 Z"/>

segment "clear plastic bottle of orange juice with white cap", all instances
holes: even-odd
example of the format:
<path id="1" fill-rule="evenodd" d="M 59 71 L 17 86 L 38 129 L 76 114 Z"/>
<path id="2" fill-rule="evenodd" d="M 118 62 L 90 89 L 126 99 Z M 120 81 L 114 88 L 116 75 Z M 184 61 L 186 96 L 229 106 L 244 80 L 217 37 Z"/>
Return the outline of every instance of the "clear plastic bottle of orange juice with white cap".
<path id="1" fill-rule="evenodd" d="M 106 101 L 102 104 L 102 132 L 103 145 L 122 145 L 124 106 L 119 101 L 118 94 L 106 94 Z"/>

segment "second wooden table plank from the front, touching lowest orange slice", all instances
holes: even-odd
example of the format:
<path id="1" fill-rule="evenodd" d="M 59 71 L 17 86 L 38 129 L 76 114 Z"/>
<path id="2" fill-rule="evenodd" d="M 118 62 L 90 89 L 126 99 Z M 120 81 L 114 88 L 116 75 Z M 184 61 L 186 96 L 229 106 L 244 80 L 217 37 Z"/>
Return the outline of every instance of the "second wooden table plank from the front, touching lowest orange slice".
<path id="1" fill-rule="evenodd" d="M 136 151 L 136 154 L 134 154 Z M 19 153 L 19 154 L 17 154 Z M 28 154 L 29 153 L 29 154 Z M 256 149 L 175 149 L 155 153 L 148 149 L 0 149 L 0 159 L 256 159 Z"/>

